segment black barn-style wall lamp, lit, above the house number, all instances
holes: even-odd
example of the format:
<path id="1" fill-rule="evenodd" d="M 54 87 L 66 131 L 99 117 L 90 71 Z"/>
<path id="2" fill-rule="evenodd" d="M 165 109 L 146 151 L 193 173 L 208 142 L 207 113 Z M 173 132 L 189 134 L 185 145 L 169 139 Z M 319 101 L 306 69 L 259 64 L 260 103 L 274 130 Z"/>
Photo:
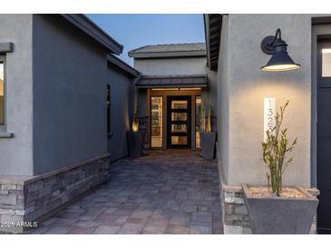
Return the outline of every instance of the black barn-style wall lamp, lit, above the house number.
<path id="1" fill-rule="evenodd" d="M 268 64 L 261 67 L 262 71 L 290 71 L 300 67 L 287 54 L 287 43 L 282 40 L 279 28 L 275 36 L 269 35 L 262 40 L 261 49 L 267 55 L 272 55 Z"/>

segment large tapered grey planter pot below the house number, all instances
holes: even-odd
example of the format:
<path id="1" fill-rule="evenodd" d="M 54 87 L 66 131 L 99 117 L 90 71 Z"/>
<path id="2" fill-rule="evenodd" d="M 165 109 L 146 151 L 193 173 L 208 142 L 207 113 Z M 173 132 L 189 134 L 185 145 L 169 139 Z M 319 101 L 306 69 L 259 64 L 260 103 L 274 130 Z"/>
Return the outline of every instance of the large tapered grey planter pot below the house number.
<path id="1" fill-rule="evenodd" d="M 317 198 L 295 186 L 306 198 L 256 197 L 243 184 L 253 234 L 309 234 L 316 214 Z"/>

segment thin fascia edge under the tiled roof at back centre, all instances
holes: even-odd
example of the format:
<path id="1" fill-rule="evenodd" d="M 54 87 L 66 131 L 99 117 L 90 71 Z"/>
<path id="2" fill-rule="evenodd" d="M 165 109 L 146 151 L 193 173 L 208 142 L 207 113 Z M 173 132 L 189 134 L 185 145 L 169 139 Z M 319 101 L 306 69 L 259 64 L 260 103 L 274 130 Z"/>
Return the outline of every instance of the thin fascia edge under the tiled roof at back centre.
<path id="1" fill-rule="evenodd" d="M 132 58 L 203 57 L 206 56 L 206 51 L 199 50 L 199 51 L 171 51 L 171 52 L 150 52 L 150 53 L 129 52 L 128 55 Z"/>

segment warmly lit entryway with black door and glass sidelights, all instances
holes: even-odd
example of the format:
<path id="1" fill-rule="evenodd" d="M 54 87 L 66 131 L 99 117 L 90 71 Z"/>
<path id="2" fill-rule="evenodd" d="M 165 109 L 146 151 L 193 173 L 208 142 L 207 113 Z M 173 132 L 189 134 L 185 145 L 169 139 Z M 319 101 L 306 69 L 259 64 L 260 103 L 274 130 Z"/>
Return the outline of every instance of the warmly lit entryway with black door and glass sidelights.
<path id="1" fill-rule="evenodd" d="M 149 89 L 151 149 L 199 149 L 201 89 Z"/>

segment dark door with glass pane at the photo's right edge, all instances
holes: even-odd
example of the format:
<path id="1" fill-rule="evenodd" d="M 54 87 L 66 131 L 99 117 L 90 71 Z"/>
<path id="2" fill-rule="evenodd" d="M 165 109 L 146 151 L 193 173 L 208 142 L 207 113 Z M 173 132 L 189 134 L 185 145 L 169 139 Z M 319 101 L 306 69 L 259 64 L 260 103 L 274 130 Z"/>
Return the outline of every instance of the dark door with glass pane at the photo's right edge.
<path id="1" fill-rule="evenodd" d="M 317 230 L 331 234 L 331 42 L 319 43 L 317 55 Z"/>

